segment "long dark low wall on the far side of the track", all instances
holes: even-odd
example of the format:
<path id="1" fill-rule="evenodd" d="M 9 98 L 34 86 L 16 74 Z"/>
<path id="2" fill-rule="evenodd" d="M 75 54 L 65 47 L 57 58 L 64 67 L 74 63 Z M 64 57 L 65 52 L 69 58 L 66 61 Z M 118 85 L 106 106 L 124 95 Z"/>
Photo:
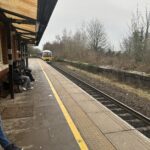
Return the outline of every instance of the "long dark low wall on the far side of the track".
<path id="1" fill-rule="evenodd" d="M 73 67 L 88 71 L 93 74 L 102 75 L 104 77 L 126 83 L 136 88 L 150 89 L 150 75 L 143 73 L 132 73 L 124 70 L 101 67 L 87 63 L 74 62 L 69 60 L 59 60 L 60 62 L 69 64 Z"/>

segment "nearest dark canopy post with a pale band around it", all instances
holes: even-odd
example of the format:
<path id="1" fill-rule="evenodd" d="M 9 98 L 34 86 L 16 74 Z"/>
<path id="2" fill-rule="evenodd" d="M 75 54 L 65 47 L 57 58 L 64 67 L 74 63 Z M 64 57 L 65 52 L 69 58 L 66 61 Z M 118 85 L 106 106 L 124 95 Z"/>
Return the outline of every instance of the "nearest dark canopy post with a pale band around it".
<path id="1" fill-rule="evenodd" d="M 7 43 L 8 43 L 8 64 L 9 64 L 9 84 L 11 99 L 14 99 L 14 82 L 13 82 L 13 55 L 12 55 L 12 28 L 11 24 L 8 25 L 7 30 Z"/>

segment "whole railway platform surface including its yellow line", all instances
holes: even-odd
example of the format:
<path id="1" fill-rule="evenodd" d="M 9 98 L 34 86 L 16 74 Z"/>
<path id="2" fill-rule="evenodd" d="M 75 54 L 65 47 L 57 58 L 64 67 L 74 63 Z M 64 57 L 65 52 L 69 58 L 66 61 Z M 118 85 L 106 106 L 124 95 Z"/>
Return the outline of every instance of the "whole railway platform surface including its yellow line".
<path id="1" fill-rule="evenodd" d="M 4 129 L 24 150 L 150 150 L 150 140 L 40 59 L 34 89 L 0 101 Z M 0 149 L 1 150 L 1 149 Z"/>

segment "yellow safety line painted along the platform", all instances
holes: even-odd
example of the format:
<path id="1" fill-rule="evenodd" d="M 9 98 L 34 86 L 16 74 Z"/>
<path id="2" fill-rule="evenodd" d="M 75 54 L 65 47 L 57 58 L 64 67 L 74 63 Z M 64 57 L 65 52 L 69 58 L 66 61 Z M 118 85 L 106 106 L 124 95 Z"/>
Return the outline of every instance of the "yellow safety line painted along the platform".
<path id="1" fill-rule="evenodd" d="M 69 127 L 70 127 L 70 129 L 71 129 L 71 131 L 72 131 L 72 133 L 73 133 L 73 135 L 75 137 L 75 139 L 76 139 L 76 142 L 78 143 L 78 145 L 79 145 L 81 150 L 88 150 L 88 147 L 87 147 L 85 141 L 81 137 L 80 132 L 78 131 L 77 127 L 75 126 L 75 124 L 74 124 L 73 120 L 71 119 L 71 117 L 70 117 L 67 109 L 65 108 L 64 104 L 62 103 L 62 100 L 58 96 L 58 94 L 57 94 L 57 92 L 56 92 L 52 82 L 48 78 L 48 76 L 47 76 L 46 72 L 44 71 L 44 69 L 43 69 L 43 67 L 42 67 L 40 62 L 39 62 L 39 64 L 40 64 L 41 69 L 42 69 L 42 71 L 43 71 L 43 73 L 44 73 L 44 75 L 45 75 L 45 77 L 46 77 L 46 79 L 47 79 L 47 81 L 49 83 L 49 86 L 50 86 L 50 88 L 51 88 L 51 90 L 52 90 L 52 92 L 53 92 L 53 94 L 54 94 L 54 96 L 55 96 L 55 98 L 56 98 L 56 100 L 57 100 L 57 102 L 59 104 L 59 107 L 61 108 L 61 111 L 63 112 L 64 117 L 65 117 L 65 119 L 66 119 L 66 121 L 67 121 L 67 123 L 68 123 L 68 125 L 69 125 Z"/>

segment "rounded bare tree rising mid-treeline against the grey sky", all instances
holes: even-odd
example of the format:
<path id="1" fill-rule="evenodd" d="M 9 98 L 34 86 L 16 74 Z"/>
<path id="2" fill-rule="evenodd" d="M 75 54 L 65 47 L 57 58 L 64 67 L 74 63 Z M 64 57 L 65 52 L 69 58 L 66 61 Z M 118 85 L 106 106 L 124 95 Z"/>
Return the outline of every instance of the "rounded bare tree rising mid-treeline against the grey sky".
<path id="1" fill-rule="evenodd" d="M 107 48 L 107 40 L 104 27 L 97 19 L 91 20 L 89 22 L 87 26 L 87 37 L 90 49 L 101 51 Z"/>

